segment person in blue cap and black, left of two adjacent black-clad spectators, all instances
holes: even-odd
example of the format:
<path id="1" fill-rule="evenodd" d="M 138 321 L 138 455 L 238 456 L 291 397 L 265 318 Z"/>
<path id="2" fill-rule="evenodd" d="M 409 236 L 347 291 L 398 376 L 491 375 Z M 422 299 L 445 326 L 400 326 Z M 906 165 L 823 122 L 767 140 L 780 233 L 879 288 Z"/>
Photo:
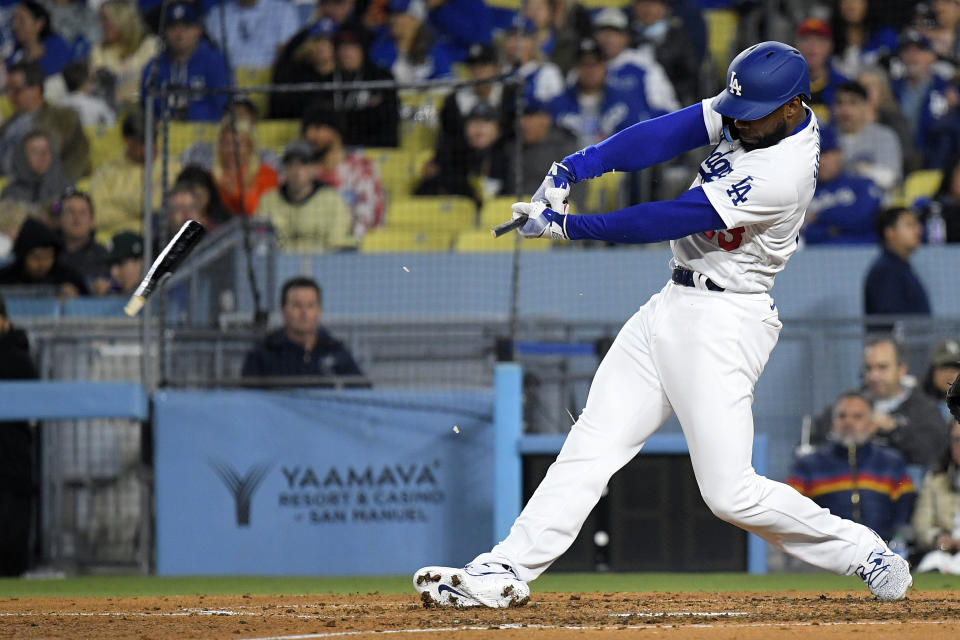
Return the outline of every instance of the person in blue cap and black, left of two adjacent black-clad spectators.
<path id="1" fill-rule="evenodd" d="M 330 18 L 320 18 L 307 25 L 291 38 L 277 56 L 273 65 L 274 84 L 301 82 L 333 82 L 337 70 L 334 37 L 337 24 Z M 305 105 L 334 108 L 334 94 L 329 91 L 270 93 L 271 118 L 299 119 Z"/>

